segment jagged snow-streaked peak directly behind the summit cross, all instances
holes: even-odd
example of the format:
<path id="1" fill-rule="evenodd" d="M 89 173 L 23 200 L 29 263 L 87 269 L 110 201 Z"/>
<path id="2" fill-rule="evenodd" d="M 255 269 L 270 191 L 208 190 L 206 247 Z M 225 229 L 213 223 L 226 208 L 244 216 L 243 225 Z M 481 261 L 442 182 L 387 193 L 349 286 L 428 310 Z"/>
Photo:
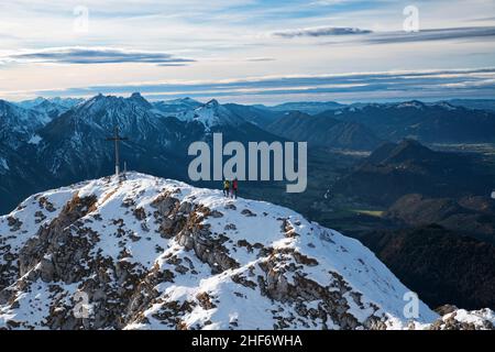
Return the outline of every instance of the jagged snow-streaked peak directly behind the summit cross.
<path id="1" fill-rule="evenodd" d="M 129 138 L 121 143 L 121 160 L 130 167 L 177 176 L 177 154 L 199 138 L 199 125 L 164 119 L 139 95 L 130 98 L 97 96 L 38 131 L 37 158 L 53 178 L 75 182 L 111 173 L 113 144 L 106 141 L 113 128 Z"/>

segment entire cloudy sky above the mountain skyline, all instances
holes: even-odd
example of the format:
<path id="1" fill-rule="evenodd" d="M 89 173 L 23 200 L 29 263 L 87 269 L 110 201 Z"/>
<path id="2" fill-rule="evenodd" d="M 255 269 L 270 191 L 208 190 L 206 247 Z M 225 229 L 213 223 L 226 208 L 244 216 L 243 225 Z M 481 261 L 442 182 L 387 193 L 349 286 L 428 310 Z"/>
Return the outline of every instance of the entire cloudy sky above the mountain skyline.
<path id="1" fill-rule="evenodd" d="M 0 99 L 492 98 L 494 10 L 495 0 L 6 0 Z"/>

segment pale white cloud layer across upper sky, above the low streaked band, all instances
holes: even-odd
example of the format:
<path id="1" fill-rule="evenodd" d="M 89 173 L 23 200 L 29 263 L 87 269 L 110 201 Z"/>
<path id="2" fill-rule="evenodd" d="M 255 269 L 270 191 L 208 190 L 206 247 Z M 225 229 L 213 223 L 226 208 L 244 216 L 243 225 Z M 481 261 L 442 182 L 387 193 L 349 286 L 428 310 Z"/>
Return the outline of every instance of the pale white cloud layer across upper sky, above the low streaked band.
<path id="1" fill-rule="evenodd" d="M 494 1 L 415 3 L 421 29 L 495 25 L 490 23 Z M 88 33 L 73 31 L 73 9 L 79 4 L 89 9 Z M 396 31 L 402 29 L 406 4 L 409 1 L 216 0 L 207 6 L 202 0 L 53 0 L 50 6 L 46 0 L 2 1 L 0 91 L 493 64 L 495 42 L 480 33 L 474 37 L 479 30 L 440 33 L 449 40 L 440 40 L 439 32 L 420 32 L 414 40 L 404 40 Z M 488 22 L 473 22 L 483 18 Z M 383 33 L 383 45 L 374 45 Z M 339 45 L 315 45 L 330 41 Z M 53 51 L 74 47 L 122 52 L 91 57 Z M 187 65 L 183 58 L 196 63 Z M 6 65 L 9 63 L 23 65 Z M 167 67 L 184 64 L 187 66 Z"/>

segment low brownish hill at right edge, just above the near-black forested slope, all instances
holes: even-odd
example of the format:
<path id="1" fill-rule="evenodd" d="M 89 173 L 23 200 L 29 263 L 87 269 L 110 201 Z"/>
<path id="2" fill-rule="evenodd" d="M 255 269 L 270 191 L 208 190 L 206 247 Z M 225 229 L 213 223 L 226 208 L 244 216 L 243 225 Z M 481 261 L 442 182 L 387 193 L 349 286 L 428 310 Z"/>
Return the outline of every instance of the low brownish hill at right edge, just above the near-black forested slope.
<path id="1" fill-rule="evenodd" d="M 406 195 L 384 213 L 384 218 L 413 227 L 438 223 L 495 245 L 495 200 L 487 197 L 452 199 Z"/>

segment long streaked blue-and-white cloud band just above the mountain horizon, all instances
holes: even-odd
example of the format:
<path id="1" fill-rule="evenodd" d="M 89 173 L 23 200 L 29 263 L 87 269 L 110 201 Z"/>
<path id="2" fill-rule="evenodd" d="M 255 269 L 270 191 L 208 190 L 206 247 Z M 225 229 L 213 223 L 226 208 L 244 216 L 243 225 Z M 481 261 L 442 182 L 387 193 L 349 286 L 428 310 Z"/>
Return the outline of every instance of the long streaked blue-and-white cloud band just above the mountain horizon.
<path id="1" fill-rule="evenodd" d="M 283 102 L 301 100 L 345 100 L 490 97 L 495 92 L 495 68 L 450 70 L 393 70 L 328 75 L 264 76 L 243 79 L 147 81 L 68 89 L 31 91 L 45 97 L 89 97 L 129 95 L 141 91 L 151 99 L 193 97 L 223 101 Z M 473 89 L 475 91 L 473 92 Z M 19 94 L 19 92 L 18 92 Z M 29 95 L 24 92 L 23 96 Z M 443 95 L 443 96 L 442 96 Z M 290 98 L 288 98 L 290 97 Z M 304 97 L 304 98 L 302 98 Z"/>

